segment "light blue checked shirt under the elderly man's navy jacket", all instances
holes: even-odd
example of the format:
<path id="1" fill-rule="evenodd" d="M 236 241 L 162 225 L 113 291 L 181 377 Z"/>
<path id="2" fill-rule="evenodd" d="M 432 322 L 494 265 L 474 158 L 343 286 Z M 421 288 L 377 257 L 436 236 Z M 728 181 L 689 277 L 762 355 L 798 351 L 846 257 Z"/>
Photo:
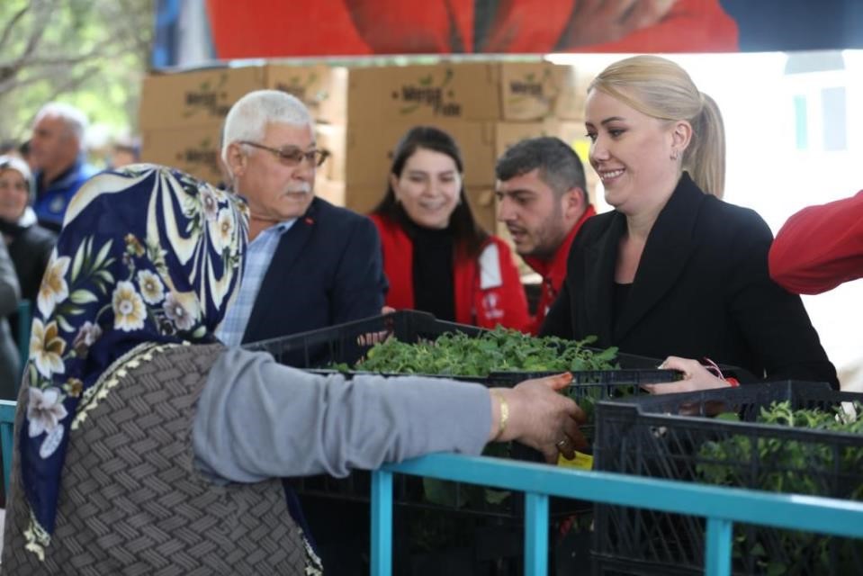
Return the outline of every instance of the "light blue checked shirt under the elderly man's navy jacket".
<path id="1" fill-rule="evenodd" d="M 243 281 L 239 286 L 237 300 L 231 304 L 228 313 L 218 329 L 216 337 L 226 346 L 239 346 L 243 342 L 246 333 L 248 319 L 255 307 L 257 293 L 264 282 L 264 276 L 273 260 L 275 248 L 279 246 L 282 235 L 293 226 L 297 219 L 286 220 L 265 229 L 258 234 L 257 238 L 249 242 L 246 249 L 246 271 L 243 273 Z"/>

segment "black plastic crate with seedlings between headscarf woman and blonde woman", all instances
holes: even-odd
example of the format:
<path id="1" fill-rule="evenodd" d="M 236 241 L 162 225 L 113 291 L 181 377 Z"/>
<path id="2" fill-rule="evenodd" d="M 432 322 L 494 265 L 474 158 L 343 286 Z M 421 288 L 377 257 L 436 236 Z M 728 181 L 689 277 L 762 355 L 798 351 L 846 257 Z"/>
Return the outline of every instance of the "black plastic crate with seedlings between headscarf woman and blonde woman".
<path id="1" fill-rule="evenodd" d="M 391 314 L 376 316 L 364 320 L 355 320 L 346 324 L 319 329 L 283 338 L 274 338 L 252 344 L 245 348 L 263 350 L 286 365 L 301 367 L 319 374 L 333 374 L 328 366 L 337 363 L 354 365 L 364 357 L 374 343 L 383 338 L 395 337 L 402 342 L 417 343 L 423 340 L 435 340 L 445 333 L 462 332 L 469 337 L 480 336 L 485 330 L 463 324 L 455 324 L 436 320 L 426 312 L 396 311 Z M 570 396 L 584 405 L 586 399 L 619 398 L 632 394 L 644 394 L 639 385 L 643 383 L 661 383 L 675 380 L 678 373 L 670 370 L 658 370 L 660 360 L 644 356 L 618 354 L 616 362 L 619 370 L 596 370 L 572 372 L 574 385 L 568 389 Z M 350 378 L 358 374 L 369 374 L 361 371 L 345 373 Z M 426 374 L 431 377 L 446 377 L 455 380 L 483 383 L 487 386 L 514 386 L 531 378 L 538 378 L 554 372 L 496 372 L 488 376 L 470 376 L 462 374 Z M 403 374 L 383 374 L 403 375 Z M 591 402 L 592 404 L 592 402 Z M 585 434 L 593 437 L 593 425 L 584 428 Z M 530 462 L 541 462 L 542 456 L 535 450 L 517 443 L 510 445 L 493 445 L 489 448 L 490 455 L 511 457 Z M 589 452 L 589 450 L 588 450 Z M 453 509 L 468 513 L 478 513 L 482 516 L 497 516 L 501 518 L 520 518 L 523 515 L 523 497 L 520 493 L 509 494 L 499 503 L 493 503 L 494 496 L 499 493 L 469 484 L 445 482 L 435 483 L 436 498 L 430 502 L 427 498 L 433 491 L 430 486 L 422 486 L 418 479 L 397 475 L 393 487 L 395 502 L 411 506 Z M 431 481 L 426 481 L 428 484 Z M 418 485 L 420 484 L 420 485 Z M 368 500 L 369 479 L 366 473 L 352 473 L 346 479 L 335 479 L 328 476 L 314 476 L 298 479 L 296 488 L 301 493 L 315 496 L 330 496 L 344 500 Z M 591 509 L 584 502 L 563 501 L 553 499 L 553 512 L 558 514 L 571 513 Z"/>

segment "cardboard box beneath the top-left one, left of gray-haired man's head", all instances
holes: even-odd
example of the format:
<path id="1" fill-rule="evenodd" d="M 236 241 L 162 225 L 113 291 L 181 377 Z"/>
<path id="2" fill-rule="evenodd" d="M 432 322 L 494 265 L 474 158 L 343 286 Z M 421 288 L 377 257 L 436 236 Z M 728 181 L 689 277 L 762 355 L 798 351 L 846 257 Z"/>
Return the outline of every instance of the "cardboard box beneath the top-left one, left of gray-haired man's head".
<path id="1" fill-rule="evenodd" d="M 145 130 L 141 135 L 141 162 L 172 166 L 219 185 L 223 181 L 220 130 L 221 121 L 178 130 Z"/>

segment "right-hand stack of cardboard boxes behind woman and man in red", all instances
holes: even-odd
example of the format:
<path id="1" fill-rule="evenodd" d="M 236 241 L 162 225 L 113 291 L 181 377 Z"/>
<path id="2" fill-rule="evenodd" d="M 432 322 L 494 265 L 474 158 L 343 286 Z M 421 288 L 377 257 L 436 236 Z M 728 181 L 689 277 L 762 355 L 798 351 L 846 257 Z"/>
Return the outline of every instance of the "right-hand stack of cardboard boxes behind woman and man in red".
<path id="1" fill-rule="evenodd" d="M 464 184 L 482 226 L 495 219 L 494 165 L 520 139 L 558 136 L 582 154 L 585 78 L 548 62 L 354 68 L 347 90 L 346 206 L 367 212 L 385 191 L 409 128 L 434 125 L 462 149 Z M 582 156 L 582 159 L 586 159 Z"/>

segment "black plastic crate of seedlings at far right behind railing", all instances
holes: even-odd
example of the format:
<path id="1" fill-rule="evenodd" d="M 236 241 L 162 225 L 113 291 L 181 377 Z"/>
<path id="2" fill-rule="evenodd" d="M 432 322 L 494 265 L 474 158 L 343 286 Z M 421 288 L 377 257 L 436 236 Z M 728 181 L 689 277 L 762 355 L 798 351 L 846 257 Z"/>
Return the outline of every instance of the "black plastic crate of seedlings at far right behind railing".
<path id="1" fill-rule="evenodd" d="M 863 498 L 863 435 L 755 422 L 762 407 L 831 410 L 863 394 L 826 383 L 760 383 L 599 402 L 594 468 L 769 491 Z M 740 421 L 716 418 L 736 414 Z M 782 488 L 785 490 L 782 490 Z M 700 574 L 701 518 L 596 507 L 598 573 Z M 780 572 L 784 568 L 786 572 Z M 844 575 L 863 571 L 863 541 L 735 525 L 735 574 Z"/>

